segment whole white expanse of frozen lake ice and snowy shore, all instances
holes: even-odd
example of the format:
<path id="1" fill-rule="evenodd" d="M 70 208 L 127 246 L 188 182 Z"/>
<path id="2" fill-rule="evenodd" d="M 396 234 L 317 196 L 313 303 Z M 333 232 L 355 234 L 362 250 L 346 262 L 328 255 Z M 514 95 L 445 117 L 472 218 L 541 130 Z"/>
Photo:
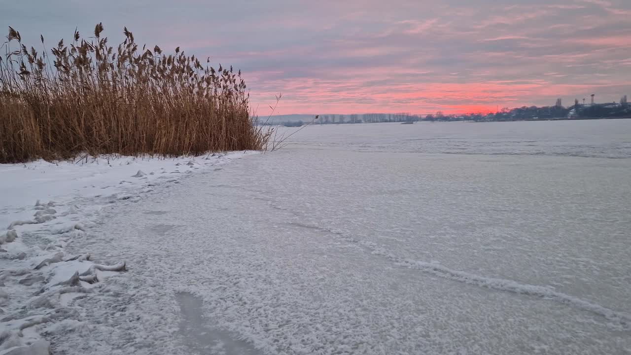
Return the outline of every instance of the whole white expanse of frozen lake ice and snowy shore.
<path id="1" fill-rule="evenodd" d="M 82 187 L 77 171 L 95 165 L 60 166 L 79 177 L 62 198 L 33 181 L 49 169 L 0 167 L 3 200 L 21 198 L 7 172 L 35 186 L 20 202 L 30 215 L 18 203 L 2 222 L 33 219 L 36 199 L 57 217 L 2 244 L 30 254 L 0 256 L 0 327 L 53 354 L 631 354 L 631 120 L 325 125 L 290 139 L 156 186 L 159 167 L 193 169 L 133 162 L 114 197 Z M 131 178 L 139 169 L 155 175 Z M 32 270 L 59 252 L 79 258 Z M 2 355 L 15 344 L 0 341 Z"/>

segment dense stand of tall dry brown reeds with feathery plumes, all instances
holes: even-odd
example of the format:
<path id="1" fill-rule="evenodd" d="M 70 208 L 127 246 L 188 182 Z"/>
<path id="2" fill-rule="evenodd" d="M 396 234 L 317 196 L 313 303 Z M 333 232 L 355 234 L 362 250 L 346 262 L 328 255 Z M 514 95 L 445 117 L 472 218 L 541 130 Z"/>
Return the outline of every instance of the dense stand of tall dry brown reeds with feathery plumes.
<path id="1" fill-rule="evenodd" d="M 269 133 L 254 124 L 241 72 L 209 66 L 179 47 L 142 49 L 133 33 L 117 48 L 98 24 L 42 52 L 9 27 L 0 47 L 0 163 L 79 153 L 198 154 L 258 150 Z"/>

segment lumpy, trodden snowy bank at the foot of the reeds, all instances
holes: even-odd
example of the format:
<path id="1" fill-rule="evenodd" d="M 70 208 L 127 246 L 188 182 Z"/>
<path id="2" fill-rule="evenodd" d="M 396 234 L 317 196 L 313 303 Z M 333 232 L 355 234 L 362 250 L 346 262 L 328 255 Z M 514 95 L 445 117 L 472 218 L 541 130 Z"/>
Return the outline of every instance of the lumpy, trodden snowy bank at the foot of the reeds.
<path id="1" fill-rule="evenodd" d="M 90 234 L 103 207 L 141 202 L 196 171 L 252 153 L 0 165 L 0 355 L 49 354 L 45 338 L 86 327 L 73 300 L 126 271 L 124 260 L 101 260 L 102 250 L 65 252 L 73 238 Z"/>

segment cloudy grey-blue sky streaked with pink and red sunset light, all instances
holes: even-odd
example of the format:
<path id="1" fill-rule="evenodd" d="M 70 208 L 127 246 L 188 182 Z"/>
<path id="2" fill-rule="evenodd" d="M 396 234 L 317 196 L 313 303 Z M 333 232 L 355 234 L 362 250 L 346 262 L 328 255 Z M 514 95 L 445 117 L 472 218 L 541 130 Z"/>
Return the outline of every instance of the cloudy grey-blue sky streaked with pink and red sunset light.
<path id="1" fill-rule="evenodd" d="M 0 0 L 49 47 L 102 22 L 111 43 L 180 46 L 240 68 L 252 109 L 428 114 L 631 96 L 629 0 Z"/>

